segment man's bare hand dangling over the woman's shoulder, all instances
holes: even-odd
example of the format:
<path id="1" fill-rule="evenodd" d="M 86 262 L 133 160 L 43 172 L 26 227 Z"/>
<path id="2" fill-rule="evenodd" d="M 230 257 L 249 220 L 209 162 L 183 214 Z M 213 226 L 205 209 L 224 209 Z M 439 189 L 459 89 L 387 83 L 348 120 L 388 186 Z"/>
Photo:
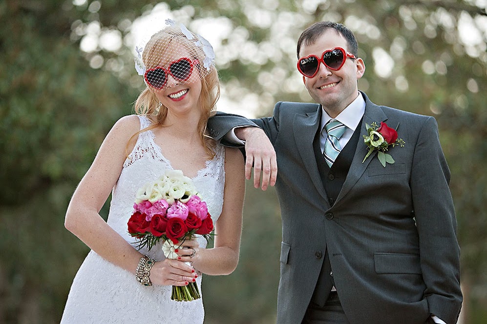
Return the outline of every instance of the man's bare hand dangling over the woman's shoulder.
<path id="1" fill-rule="evenodd" d="M 269 137 L 257 127 L 243 127 L 235 129 L 235 135 L 245 140 L 245 177 L 250 180 L 254 167 L 254 187 L 267 190 L 274 186 L 277 178 L 277 161 L 275 150 Z M 262 182 L 260 176 L 262 174 Z"/>

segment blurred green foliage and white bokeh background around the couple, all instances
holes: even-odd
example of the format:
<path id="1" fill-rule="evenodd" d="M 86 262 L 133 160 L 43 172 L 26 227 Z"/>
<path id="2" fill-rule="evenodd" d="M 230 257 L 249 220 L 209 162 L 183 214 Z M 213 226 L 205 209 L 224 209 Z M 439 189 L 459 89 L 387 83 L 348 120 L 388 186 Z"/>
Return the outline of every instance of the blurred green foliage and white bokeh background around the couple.
<path id="1" fill-rule="evenodd" d="M 359 89 L 438 121 L 462 249 L 461 322 L 487 323 L 486 7 L 486 0 L 1 0 L 0 323 L 59 323 L 88 252 L 64 229 L 68 201 L 144 88 L 134 47 L 168 18 L 212 43 L 222 82 L 217 108 L 249 117 L 271 114 L 279 100 L 311 101 L 296 71 L 296 40 L 319 20 L 346 24 L 367 67 Z M 205 323 L 275 323 L 274 189 L 247 183 L 244 211 L 238 268 L 203 281 Z"/>

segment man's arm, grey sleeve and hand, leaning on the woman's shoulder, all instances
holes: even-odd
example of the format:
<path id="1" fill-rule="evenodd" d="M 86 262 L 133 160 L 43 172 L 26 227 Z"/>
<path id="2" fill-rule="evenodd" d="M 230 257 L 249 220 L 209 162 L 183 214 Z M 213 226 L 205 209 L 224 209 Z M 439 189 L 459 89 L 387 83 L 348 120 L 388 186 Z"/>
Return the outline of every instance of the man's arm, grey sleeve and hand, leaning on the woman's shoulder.
<path id="1" fill-rule="evenodd" d="M 276 107 L 279 104 L 277 103 Z M 277 178 L 277 162 L 273 147 L 278 133 L 278 123 L 275 120 L 274 116 L 248 119 L 237 114 L 217 112 L 208 121 L 210 134 L 223 145 L 245 145 L 245 176 L 251 179 L 254 168 L 254 187 L 261 186 L 262 190 L 266 190 L 269 185 L 274 186 Z"/>

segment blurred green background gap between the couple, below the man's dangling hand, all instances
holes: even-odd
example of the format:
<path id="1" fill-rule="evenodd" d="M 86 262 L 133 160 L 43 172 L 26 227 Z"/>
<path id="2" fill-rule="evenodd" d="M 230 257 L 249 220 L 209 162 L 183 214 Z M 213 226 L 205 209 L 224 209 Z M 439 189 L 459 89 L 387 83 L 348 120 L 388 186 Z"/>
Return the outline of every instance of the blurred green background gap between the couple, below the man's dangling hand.
<path id="1" fill-rule="evenodd" d="M 274 188 L 256 190 L 247 181 L 238 267 L 229 276 L 204 276 L 205 323 L 275 323 L 280 228 Z"/>

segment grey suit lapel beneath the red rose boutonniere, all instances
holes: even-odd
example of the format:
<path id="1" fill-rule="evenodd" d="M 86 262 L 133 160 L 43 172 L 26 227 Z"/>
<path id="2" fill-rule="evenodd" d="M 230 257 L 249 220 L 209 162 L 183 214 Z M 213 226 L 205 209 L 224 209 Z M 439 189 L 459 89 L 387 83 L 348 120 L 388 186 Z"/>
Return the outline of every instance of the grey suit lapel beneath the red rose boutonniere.
<path id="1" fill-rule="evenodd" d="M 377 154 L 377 152 L 372 153 L 362 163 L 363 158 L 367 153 L 367 150 L 365 149 L 365 145 L 363 144 L 363 135 L 367 134 L 367 128 L 365 127 L 365 124 L 367 123 L 370 125 L 374 121 L 380 124 L 381 121 L 387 120 L 387 116 L 386 114 L 384 114 L 382 109 L 376 104 L 372 103 L 365 94 L 363 94 L 363 96 L 365 99 L 365 113 L 363 114 L 362 124 L 359 125 L 360 127 L 359 143 L 357 144 L 357 149 L 355 150 L 355 155 L 352 160 L 352 164 L 350 165 L 350 170 L 348 171 L 347 178 L 343 183 L 343 187 L 341 188 L 341 191 L 337 197 L 336 203 L 338 203 L 339 200 L 343 198 L 347 194 L 347 192 L 350 191 L 350 189 L 352 189 L 352 187 L 357 183 L 359 178 L 362 176 L 363 172 L 365 172 L 365 169 L 369 165 L 372 158 L 374 158 L 374 156 Z"/>

